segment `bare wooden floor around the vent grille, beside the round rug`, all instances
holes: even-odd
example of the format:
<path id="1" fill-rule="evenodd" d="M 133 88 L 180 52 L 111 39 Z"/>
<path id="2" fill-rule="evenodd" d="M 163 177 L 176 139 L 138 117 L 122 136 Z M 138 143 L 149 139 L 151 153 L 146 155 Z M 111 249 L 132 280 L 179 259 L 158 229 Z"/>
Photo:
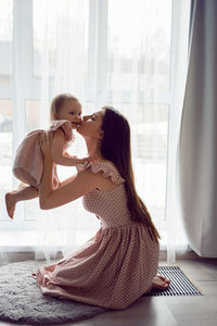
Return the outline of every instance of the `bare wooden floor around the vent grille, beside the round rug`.
<path id="1" fill-rule="evenodd" d="M 68 326 L 217 326 L 217 259 L 164 261 L 180 266 L 203 296 L 143 297 L 120 312 L 107 312 Z M 0 322 L 0 326 L 14 325 Z M 22 325 L 22 324 L 18 324 Z"/>

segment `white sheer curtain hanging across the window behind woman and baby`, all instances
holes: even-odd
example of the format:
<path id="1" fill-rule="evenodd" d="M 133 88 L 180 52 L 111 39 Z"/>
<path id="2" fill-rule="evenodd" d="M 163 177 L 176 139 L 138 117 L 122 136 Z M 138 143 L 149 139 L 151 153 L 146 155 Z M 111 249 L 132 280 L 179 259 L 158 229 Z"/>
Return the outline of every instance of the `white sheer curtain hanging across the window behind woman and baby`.
<path id="1" fill-rule="evenodd" d="M 190 0 L 21 0 L 22 4 L 33 13 L 30 68 L 25 66 L 30 90 L 25 90 L 22 113 L 26 131 L 49 126 L 49 104 L 60 92 L 78 97 L 84 114 L 105 104 L 122 111 L 131 126 L 138 192 L 159 229 L 168 260 L 175 260 L 176 250 L 187 244 L 177 220 L 176 155 Z M 71 152 L 86 155 L 79 135 Z M 74 172 L 59 168 L 61 178 Z M 36 229 L 37 259 L 72 252 L 99 227 L 80 200 L 42 212 L 36 199 L 26 203 L 25 212 Z"/>

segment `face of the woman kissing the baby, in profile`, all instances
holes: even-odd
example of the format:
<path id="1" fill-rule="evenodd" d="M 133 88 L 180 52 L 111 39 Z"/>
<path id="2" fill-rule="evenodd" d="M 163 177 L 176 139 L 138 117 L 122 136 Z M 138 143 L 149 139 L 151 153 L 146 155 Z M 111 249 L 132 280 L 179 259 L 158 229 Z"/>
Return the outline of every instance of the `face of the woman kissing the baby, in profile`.
<path id="1" fill-rule="evenodd" d="M 80 125 L 77 127 L 77 131 L 84 138 L 101 139 L 103 131 L 101 129 L 104 111 L 100 110 L 92 115 L 85 115 Z"/>

